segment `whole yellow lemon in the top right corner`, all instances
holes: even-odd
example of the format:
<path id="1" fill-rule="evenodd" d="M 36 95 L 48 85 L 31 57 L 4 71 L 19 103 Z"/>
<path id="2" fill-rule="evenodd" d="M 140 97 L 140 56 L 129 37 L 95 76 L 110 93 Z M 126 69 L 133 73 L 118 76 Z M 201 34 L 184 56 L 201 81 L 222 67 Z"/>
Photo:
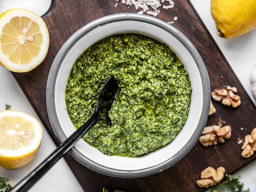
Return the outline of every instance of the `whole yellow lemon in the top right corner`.
<path id="1" fill-rule="evenodd" d="M 232 38 L 256 27 L 256 0 L 211 0 L 218 35 Z"/>

